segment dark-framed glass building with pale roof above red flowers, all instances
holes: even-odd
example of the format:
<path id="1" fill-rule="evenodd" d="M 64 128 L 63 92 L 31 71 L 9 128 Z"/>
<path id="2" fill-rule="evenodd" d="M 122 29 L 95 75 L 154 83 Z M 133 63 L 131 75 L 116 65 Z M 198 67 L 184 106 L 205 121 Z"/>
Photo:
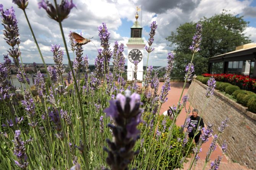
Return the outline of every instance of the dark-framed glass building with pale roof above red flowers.
<path id="1" fill-rule="evenodd" d="M 256 78 L 256 43 L 236 47 L 235 51 L 209 58 L 208 73 L 237 74 Z"/>

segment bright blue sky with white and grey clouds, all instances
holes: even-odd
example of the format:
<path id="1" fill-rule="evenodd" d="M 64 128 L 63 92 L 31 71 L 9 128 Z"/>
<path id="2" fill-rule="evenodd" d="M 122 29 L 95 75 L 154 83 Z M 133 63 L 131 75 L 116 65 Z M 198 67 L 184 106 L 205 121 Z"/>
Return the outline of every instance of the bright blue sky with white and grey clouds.
<path id="1" fill-rule="evenodd" d="M 51 64 L 53 63 L 51 44 L 60 44 L 63 50 L 64 44 L 58 23 L 50 19 L 45 10 L 38 8 L 38 2 L 39 0 L 29 0 L 26 13 L 45 62 Z M 49 2 L 54 3 L 53 0 L 49 0 Z M 60 2 L 57 0 L 57 3 Z M 11 6 L 15 9 L 23 62 L 42 63 L 23 11 L 16 7 L 11 0 L 1 0 L 0 3 L 3 4 L 4 9 Z M 85 38 L 94 37 L 92 38 L 93 43 L 100 48 L 97 27 L 104 22 L 110 31 L 110 47 L 113 48 L 115 41 L 125 44 L 126 64 L 128 51 L 126 43 L 130 38 L 130 27 L 136 21 L 136 6 L 142 9 L 142 14 L 141 11 L 138 12 L 138 21 L 143 27 L 142 37 L 146 44 L 151 22 L 156 21 L 158 25 L 152 44 L 155 51 L 149 55 L 149 65 L 167 65 L 168 52 L 172 51 L 174 47 L 169 46 L 170 42 L 165 38 L 172 31 L 175 32 L 179 25 L 185 22 L 198 22 L 204 16 L 211 17 L 214 14 L 222 13 L 224 9 L 228 10 L 228 13 L 244 16 L 243 19 L 250 22 L 244 33 L 256 43 L 256 0 L 73 0 L 73 3 L 77 8 L 73 8 L 69 17 L 62 22 L 66 42 L 69 44 L 68 33 L 70 31 L 82 32 Z M 83 46 L 83 55 L 87 54 L 89 64 L 94 64 L 94 59 L 97 56 L 97 50 L 93 43 Z M 3 26 L 0 25 L 0 62 L 3 62 L 3 54 L 7 54 L 9 48 L 10 46 L 3 39 Z M 65 53 L 64 50 L 63 62 L 67 64 L 68 59 Z M 70 48 L 69 54 L 73 60 L 73 52 Z M 144 50 L 144 56 L 143 64 L 146 65 L 146 50 Z"/>

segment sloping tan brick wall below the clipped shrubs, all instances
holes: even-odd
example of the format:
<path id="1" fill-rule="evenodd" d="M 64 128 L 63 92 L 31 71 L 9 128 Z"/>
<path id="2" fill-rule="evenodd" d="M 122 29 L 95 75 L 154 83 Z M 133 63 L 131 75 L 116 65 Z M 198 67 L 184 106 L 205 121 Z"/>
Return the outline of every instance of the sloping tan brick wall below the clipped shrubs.
<path id="1" fill-rule="evenodd" d="M 207 86 L 200 81 L 193 81 L 188 89 L 190 103 L 199 110 L 204 122 L 214 123 L 214 133 L 221 122 L 228 116 L 230 121 L 224 133 L 218 138 L 219 145 L 226 140 L 227 156 L 241 165 L 256 169 L 256 114 L 228 99 L 217 90 L 206 98 Z M 206 104 L 205 104 L 206 103 Z"/>

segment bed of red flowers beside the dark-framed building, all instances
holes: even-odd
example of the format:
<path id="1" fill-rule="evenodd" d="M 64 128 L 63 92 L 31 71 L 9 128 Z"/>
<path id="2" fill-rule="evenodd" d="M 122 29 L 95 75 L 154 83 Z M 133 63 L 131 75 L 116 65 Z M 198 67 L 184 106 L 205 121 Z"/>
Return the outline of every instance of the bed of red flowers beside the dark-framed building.
<path id="1" fill-rule="evenodd" d="M 249 76 L 233 75 L 233 74 L 208 74 L 204 73 L 204 77 L 213 76 L 217 81 L 228 82 L 230 84 L 240 86 L 241 89 L 255 91 L 256 79 L 252 79 Z"/>

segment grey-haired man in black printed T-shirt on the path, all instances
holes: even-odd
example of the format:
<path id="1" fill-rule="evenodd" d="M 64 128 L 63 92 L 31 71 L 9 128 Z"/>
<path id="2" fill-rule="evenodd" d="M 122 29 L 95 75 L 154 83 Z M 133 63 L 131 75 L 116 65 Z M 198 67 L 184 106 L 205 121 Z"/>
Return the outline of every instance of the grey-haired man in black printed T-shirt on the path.
<path id="1" fill-rule="evenodd" d="M 198 126 L 200 126 L 201 129 L 204 127 L 203 118 L 200 118 L 200 116 L 198 116 L 197 109 L 192 110 L 192 115 L 190 116 L 190 126 L 191 126 L 191 124 L 195 125 L 195 129 L 193 129 L 190 133 L 188 133 L 188 137 L 190 137 L 190 138 L 194 137 L 194 141 L 197 144 L 202 132 L 201 132 L 201 130 L 199 130 L 199 133 L 195 135 L 196 129 L 198 129 Z"/>

